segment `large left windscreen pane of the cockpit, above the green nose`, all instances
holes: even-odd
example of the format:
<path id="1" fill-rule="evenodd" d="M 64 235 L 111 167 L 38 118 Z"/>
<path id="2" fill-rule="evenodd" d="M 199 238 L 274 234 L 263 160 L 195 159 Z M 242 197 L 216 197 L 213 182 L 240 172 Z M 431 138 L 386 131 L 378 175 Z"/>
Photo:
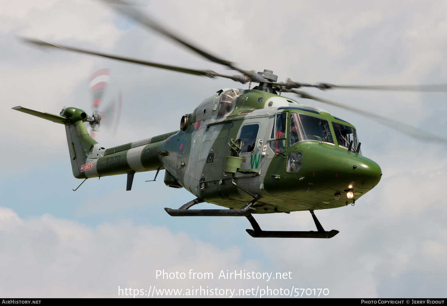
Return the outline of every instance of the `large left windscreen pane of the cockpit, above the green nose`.
<path id="1" fill-rule="evenodd" d="M 333 144 L 328 121 L 314 116 L 291 113 L 289 145 L 303 140 L 314 140 Z"/>

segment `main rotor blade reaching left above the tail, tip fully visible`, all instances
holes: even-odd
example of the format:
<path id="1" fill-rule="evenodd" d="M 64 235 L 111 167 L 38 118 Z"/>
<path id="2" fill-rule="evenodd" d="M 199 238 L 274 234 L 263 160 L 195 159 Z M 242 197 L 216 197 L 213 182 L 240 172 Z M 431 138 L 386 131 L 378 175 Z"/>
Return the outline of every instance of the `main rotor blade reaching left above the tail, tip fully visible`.
<path id="1" fill-rule="evenodd" d="M 31 39 L 31 38 L 21 38 L 21 39 L 23 39 L 27 43 L 33 43 L 38 46 L 55 47 L 55 48 L 60 48 L 60 49 L 79 52 L 79 53 L 98 55 L 98 56 L 106 57 L 109 59 L 118 59 L 118 60 L 122 60 L 125 62 L 146 65 L 146 66 L 151 66 L 151 67 L 156 67 L 156 68 L 162 68 L 162 69 L 167 69 L 167 70 L 173 70 L 173 71 L 178 71 L 178 72 L 183 72 L 183 73 L 195 74 L 198 76 L 220 76 L 219 74 L 217 74 L 217 73 L 213 74 L 213 72 L 208 71 L 208 70 L 197 70 L 197 69 L 189 69 L 189 68 L 183 68 L 183 67 L 177 67 L 177 66 L 171 66 L 171 65 L 158 64 L 158 63 L 144 61 L 141 59 L 131 59 L 128 57 L 122 57 L 122 56 L 117 56 L 117 55 L 101 53 L 101 52 L 88 51 L 88 50 L 84 50 L 84 49 L 56 45 L 54 43 L 49 43 L 49 42 L 46 42 L 46 41 L 43 41 L 40 39 Z"/>

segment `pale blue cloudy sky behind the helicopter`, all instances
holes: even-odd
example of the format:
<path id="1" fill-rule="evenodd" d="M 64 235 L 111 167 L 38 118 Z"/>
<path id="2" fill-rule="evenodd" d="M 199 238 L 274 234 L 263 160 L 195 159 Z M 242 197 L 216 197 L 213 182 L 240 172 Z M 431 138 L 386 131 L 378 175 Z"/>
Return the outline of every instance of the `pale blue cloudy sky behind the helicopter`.
<path id="1" fill-rule="evenodd" d="M 135 3 L 181 37 L 246 70 L 272 70 L 278 81 L 447 83 L 444 1 Z M 118 132 L 103 129 L 97 136 L 107 148 L 175 131 L 181 116 L 204 98 L 248 84 L 41 50 L 18 37 L 228 73 L 100 1 L 0 0 L 0 296 L 164 297 L 159 289 L 187 294 L 206 288 L 214 289 L 207 297 L 227 298 L 241 297 L 240 289 L 243 297 L 257 298 L 262 290 L 262 297 L 287 297 L 286 289 L 300 298 L 446 297 L 445 145 L 298 100 L 354 124 L 363 155 L 380 165 L 383 176 L 355 206 L 316 212 L 326 230 L 340 231 L 331 239 L 252 238 L 246 218 L 170 217 L 163 208 L 178 208 L 194 196 L 166 187 L 163 173 L 156 182 L 144 182 L 155 172 L 135 174 L 131 191 L 121 175 L 89 179 L 73 192 L 81 181 L 72 176 L 64 127 L 11 110 L 20 105 L 59 114 L 63 106 L 75 106 L 89 113 L 87 79 L 110 68 L 105 101 L 122 90 L 123 106 Z M 307 91 L 447 138 L 446 93 Z M 257 221 L 266 230 L 315 227 L 307 212 Z M 185 278 L 160 278 L 163 270 Z M 223 278 L 227 270 L 264 279 Z M 213 279 L 190 279 L 190 271 L 212 272 Z M 118 290 L 126 288 L 132 290 Z M 319 289 L 327 291 L 318 297 Z"/>

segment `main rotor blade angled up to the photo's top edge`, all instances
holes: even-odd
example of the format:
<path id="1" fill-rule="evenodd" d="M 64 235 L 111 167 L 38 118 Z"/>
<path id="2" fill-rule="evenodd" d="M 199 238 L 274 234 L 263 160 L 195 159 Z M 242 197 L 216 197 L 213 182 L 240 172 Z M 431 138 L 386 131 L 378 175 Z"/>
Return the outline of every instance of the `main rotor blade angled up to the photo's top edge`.
<path id="1" fill-rule="evenodd" d="M 203 57 L 211 60 L 212 62 L 215 62 L 217 64 L 221 64 L 224 66 L 228 66 L 230 68 L 235 68 L 233 66 L 232 62 L 229 62 L 225 59 L 219 59 L 218 57 L 211 55 L 210 53 L 203 51 L 202 49 L 194 46 L 191 43 L 188 43 L 186 40 L 180 38 L 178 35 L 174 34 L 173 32 L 167 30 L 163 26 L 160 26 L 152 17 L 149 17 L 148 15 L 145 15 L 141 13 L 139 10 L 135 9 L 131 4 L 123 1 L 123 0 L 102 0 L 109 4 L 112 8 L 117 10 L 118 12 L 126 15 L 127 17 L 143 24 L 144 26 L 147 26 L 148 28 L 157 31 L 160 34 L 163 34 L 164 36 L 173 39 L 177 43 L 182 44 L 183 46 L 191 49 L 192 51 L 202 55 Z"/>

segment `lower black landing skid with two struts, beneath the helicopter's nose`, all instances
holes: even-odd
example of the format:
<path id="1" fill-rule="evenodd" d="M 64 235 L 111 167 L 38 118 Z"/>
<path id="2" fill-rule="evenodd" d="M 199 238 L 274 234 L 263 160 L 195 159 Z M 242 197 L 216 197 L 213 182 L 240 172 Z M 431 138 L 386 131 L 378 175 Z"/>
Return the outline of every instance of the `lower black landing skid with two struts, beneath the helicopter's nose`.
<path id="1" fill-rule="evenodd" d="M 312 214 L 313 221 L 315 222 L 317 232 L 313 230 L 304 232 L 304 231 L 271 231 L 271 230 L 262 230 L 259 224 L 257 224 L 254 217 L 250 214 L 247 217 L 249 219 L 253 229 L 245 229 L 250 236 L 254 238 L 332 238 L 333 236 L 339 233 L 338 230 L 333 229 L 329 232 L 323 229 L 320 221 L 316 218 L 313 210 L 309 210 Z"/>

